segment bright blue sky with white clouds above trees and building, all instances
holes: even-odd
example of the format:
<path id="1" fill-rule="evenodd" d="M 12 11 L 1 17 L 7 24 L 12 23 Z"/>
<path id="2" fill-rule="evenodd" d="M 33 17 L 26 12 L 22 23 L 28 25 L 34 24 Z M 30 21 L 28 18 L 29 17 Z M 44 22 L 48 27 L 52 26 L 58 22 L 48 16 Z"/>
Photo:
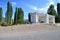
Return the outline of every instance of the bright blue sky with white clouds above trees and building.
<path id="1" fill-rule="evenodd" d="M 28 13 L 31 12 L 47 13 L 47 9 L 51 4 L 55 6 L 56 10 L 57 3 L 60 3 L 60 0 L 0 0 L 0 7 L 3 8 L 3 17 L 5 17 L 8 1 L 10 1 L 13 6 L 13 13 L 15 12 L 16 7 L 23 9 L 24 19 L 28 19 Z"/>

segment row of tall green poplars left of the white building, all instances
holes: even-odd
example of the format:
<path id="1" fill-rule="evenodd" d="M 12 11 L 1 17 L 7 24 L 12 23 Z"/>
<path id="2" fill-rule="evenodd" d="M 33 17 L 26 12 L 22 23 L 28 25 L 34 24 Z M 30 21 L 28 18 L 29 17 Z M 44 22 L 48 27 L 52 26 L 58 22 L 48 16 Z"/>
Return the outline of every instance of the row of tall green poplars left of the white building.
<path id="1" fill-rule="evenodd" d="M 13 15 L 13 8 L 12 4 L 8 1 L 7 2 L 7 11 L 5 13 L 5 23 L 2 23 L 2 15 L 3 11 L 0 7 L 0 25 L 12 25 L 12 24 L 23 24 L 24 23 L 24 12 L 22 8 L 16 7 L 15 14 L 14 14 L 14 22 L 12 23 L 12 15 Z"/>

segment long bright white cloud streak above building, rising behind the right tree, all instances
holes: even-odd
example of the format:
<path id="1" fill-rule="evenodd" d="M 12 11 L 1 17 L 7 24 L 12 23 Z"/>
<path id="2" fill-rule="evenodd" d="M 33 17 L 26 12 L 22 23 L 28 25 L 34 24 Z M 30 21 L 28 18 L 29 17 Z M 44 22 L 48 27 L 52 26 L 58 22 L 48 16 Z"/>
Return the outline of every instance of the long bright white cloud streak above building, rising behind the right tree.
<path id="1" fill-rule="evenodd" d="M 36 11 L 43 11 L 43 12 L 47 12 L 49 6 L 53 4 L 54 5 L 54 0 L 48 0 L 48 3 L 46 3 L 46 6 L 42 7 L 42 8 L 38 8 L 37 6 L 33 6 L 33 5 L 29 5 L 28 4 L 28 7 L 33 9 L 33 10 L 36 10 Z M 55 10 L 57 10 L 57 6 L 54 6 L 55 7 Z"/>

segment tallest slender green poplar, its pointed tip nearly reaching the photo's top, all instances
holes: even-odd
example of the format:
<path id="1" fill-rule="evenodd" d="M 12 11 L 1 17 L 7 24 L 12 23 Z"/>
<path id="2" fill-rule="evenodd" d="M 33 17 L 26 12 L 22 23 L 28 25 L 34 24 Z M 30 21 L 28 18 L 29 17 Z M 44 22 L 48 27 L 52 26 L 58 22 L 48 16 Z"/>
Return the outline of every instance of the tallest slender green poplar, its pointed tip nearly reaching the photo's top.
<path id="1" fill-rule="evenodd" d="M 11 25 L 11 19 L 12 19 L 12 5 L 10 2 L 7 3 L 7 12 L 6 12 L 6 22 L 8 25 Z"/>

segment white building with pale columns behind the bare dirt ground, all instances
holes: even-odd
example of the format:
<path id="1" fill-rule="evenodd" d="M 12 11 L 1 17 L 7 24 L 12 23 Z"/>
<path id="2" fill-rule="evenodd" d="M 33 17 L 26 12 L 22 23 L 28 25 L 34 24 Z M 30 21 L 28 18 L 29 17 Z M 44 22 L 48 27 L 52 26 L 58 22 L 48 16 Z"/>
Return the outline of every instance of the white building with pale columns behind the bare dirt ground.
<path id="1" fill-rule="evenodd" d="M 55 24 L 55 16 L 43 13 L 30 13 L 31 23 L 52 23 Z"/>

